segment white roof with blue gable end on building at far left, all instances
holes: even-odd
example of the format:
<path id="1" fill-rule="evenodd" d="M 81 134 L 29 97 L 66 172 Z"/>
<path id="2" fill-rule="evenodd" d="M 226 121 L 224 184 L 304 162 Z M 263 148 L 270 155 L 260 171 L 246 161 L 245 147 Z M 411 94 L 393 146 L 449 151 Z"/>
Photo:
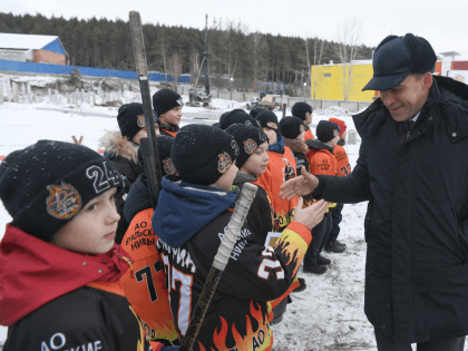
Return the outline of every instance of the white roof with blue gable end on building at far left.
<path id="1" fill-rule="evenodd" d="M 67 55 L 57 36 L 0 33 L 0 49 L 14 50 L 48 50 Z"/>

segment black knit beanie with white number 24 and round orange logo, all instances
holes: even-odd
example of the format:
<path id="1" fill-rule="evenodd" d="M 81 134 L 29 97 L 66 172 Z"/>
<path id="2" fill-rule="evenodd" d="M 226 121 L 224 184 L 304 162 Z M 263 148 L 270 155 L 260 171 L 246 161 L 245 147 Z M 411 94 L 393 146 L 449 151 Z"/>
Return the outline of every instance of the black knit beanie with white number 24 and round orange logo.
<path id="1" fill-rule="evenodd" d="M 0 165 L 0 198 L 11 224 L 46 242 L 89 201 L 123 185 L 110 160 L 64 142 L 39 140 Z"/>

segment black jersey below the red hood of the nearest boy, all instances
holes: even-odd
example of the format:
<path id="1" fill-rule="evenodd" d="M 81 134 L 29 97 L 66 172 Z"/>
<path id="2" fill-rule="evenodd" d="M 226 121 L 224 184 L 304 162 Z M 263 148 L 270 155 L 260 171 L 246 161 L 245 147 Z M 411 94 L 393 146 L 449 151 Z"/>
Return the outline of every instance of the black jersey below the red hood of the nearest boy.
<path id="1" fill-rule="evenodd" d="M 148 350 L 119 283 L 98 283 L 62 295 L 8 329 L 4 351 Z"/>

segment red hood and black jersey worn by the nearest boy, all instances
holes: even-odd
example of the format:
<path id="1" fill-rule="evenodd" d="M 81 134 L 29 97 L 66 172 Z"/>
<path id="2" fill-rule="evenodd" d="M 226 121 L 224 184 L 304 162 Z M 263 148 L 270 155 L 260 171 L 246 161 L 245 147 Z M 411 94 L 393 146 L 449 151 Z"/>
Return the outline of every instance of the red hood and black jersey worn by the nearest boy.
<path id="1" fill-rule="evenodd" d="M 148 350 L 119 283 L 128 257 L 119 245 L 101 255 L 70 252 L 8 225 L 0 244 L 3 350 Z"/>

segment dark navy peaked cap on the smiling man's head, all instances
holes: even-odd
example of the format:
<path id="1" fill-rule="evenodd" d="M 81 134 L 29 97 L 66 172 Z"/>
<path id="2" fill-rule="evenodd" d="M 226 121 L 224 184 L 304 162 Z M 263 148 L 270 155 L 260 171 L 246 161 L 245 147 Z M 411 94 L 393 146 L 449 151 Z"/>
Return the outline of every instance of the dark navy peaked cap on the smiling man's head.
<path id="1" fill-rule="evenodd" d="M 372 58 L 373 77 L 362 89 L 389 90 L 410 74 L 433 72 L 437 56 L 429 41 L 411 33 L 388 36 L 377 47 Z"/>

